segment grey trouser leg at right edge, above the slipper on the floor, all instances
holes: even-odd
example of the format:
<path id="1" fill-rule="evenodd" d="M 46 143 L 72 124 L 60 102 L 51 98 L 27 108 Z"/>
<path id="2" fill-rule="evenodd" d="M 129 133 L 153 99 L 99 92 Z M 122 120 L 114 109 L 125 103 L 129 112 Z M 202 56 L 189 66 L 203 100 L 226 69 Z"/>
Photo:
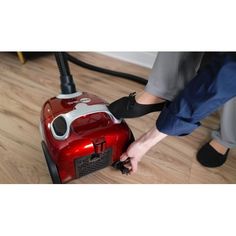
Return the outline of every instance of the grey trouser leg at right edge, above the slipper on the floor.
<path id="1" fill-rule="evenodd" d="M 220 129 L 212 132 L 212 137 L 228 147 L 236 147 L 236 98 L 229 100 L 221 109 Z"/>

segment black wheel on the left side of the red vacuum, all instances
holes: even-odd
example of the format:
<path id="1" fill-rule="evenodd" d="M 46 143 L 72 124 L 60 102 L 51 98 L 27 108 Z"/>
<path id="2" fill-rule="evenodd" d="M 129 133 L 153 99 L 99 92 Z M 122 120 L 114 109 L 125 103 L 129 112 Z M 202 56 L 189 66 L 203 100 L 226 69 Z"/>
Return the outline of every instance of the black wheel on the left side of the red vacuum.
<path id="1" fill-rule="evenodd" d="M 61 184 L 61 179 L 57 170 L 55 163 L 52 161 L 50 154 L 48 153 L 47 146 L 44 141 L 42 141 L 43 153 L 47 162 L 48 170 L 54 184 Z"/>

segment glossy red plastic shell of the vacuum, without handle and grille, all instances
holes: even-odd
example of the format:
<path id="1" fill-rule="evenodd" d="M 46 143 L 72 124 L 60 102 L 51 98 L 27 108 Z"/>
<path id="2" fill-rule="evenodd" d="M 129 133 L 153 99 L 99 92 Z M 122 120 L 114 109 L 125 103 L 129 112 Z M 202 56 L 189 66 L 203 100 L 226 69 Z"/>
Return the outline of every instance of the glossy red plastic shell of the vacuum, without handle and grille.
<path id="1" fill-rule="evenodd" d="M 112 163 L 119 160 L 121 154 L 133 141 L 133 135 L 127 124 L 122 121 L 115 124 L 106 113 L 86 115 L 71 125 L 66 140 L 56 140 L 51 132 L 51 122 L 59 114 L 72 111 L 82 98 L 91 99 L 88 105 L 107 104 L 95 95 L 83 93 L 70 99 L 51 98 L 41 112 L 41 132 L 52 161 L 55 163 L 61 182 L 77 178 L 75 160 L 112 149 Z"/>

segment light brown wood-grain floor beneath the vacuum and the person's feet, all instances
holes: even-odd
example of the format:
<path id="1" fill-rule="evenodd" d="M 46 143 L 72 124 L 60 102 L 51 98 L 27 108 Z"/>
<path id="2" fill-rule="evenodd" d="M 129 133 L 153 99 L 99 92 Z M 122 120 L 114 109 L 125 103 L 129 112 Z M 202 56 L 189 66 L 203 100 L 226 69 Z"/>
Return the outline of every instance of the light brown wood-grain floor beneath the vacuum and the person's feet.
<path id="1" fill-rule="evenodd" d="M 96 65 L 147 77 L 150 70 L 96 53 L 75 53 Z M 141 91 L 142 85 L 71 66 L 77 88 L 108 102 Z M 0 183 L 51 183 L 39 134 L 43 103 L 59 93 L 53 55 L 42 55 L 21 65 L 14 53 L 0 53 Z M 135 137 L 152 127 L 158 113 L 127 120 Z M 236 150 L 227 163 L 208 169 L 195 160 L 197 150 L 217 129 L 218 115 L 203 121 L 189 136 L 167 137 L 150 150 L 132 176 L 108 167 L 71 183 L 236 183 Z"/>

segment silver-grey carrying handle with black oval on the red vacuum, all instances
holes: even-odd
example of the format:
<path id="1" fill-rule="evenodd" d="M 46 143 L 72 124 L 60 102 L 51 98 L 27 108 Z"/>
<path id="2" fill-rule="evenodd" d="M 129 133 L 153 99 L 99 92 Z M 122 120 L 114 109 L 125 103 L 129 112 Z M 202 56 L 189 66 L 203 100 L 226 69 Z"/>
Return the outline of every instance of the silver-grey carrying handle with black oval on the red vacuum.
<path id="1" fill-rule="evenodd" d="M 104 104 L 87 105 L 85 103 L 79 103 L 75 106 L 74 110 L 60 114 L 53 119 L 50 125 L 53 137 L 57 140 L 67 139 L 70 134 L 70 126 L 76 119 L 100 112 L 108 114 L 114 123 L 121 123 L 121 120 L 116 119 Z"/>

